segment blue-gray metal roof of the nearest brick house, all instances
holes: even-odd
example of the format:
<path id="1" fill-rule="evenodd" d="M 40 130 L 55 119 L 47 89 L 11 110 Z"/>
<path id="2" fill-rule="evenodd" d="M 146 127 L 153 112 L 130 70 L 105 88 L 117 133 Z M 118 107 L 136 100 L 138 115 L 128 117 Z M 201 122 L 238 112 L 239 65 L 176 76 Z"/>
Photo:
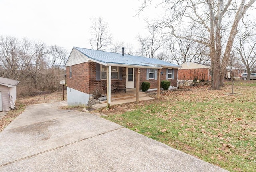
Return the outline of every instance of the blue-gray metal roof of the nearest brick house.
<path id="1" fill-rule="evenodd" d="M 172 64 L 169 62 L 165 62 L 155 58 L 145 58 L 140 56 L 132 56 L 124 54 L 118 54 L 113 52 L 104 52 L 99 50 L 90 50 L 86 48 L 78 48 L 74 47 L 76 50 L 80 51 L 82 54 L 87 56 L 92 60 L 96 60 L 98 62 L 105 63 L 109 66 L 111 65 L 124 65 L 124 66 L 140 66 L 144 68 L 152 67 L 152 68 L 180 68 L 176 64 Z"/>

